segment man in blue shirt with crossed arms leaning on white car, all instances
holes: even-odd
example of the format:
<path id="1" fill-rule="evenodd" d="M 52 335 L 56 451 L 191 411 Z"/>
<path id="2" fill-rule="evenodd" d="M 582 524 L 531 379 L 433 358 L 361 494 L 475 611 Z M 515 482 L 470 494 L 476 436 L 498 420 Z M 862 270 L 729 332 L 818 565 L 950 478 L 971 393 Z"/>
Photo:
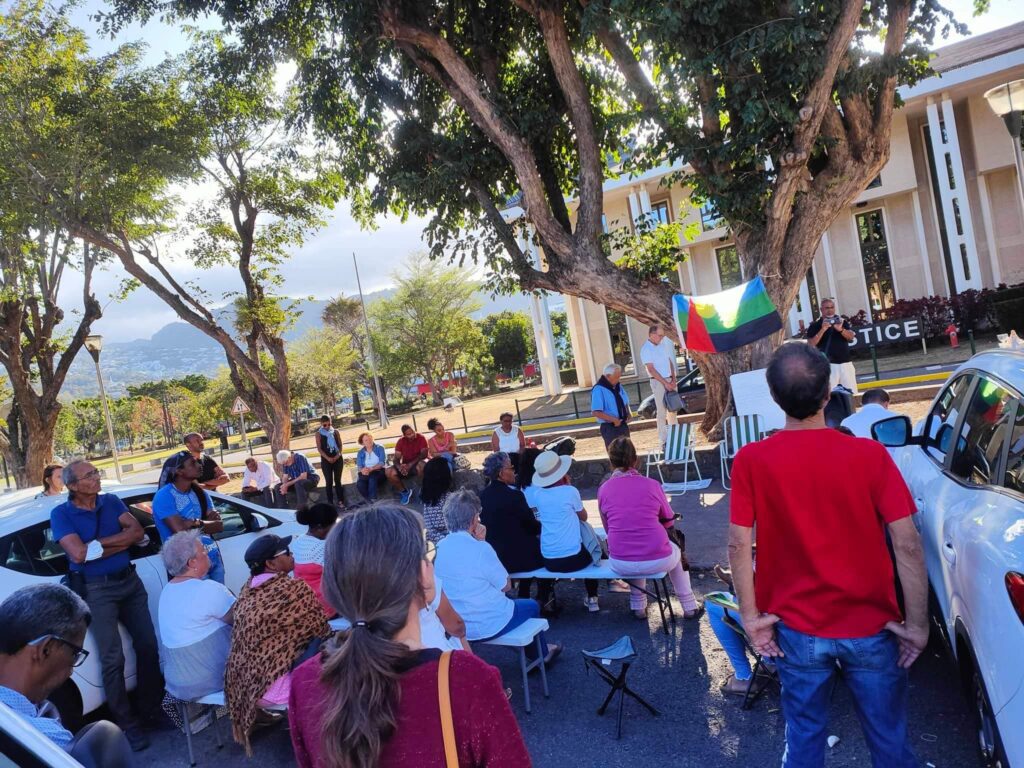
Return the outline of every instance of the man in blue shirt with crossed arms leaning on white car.
<path id="1" fill-rule="evenodd" d="M 145 532 L 124 502 L 113 494 L 99 493 L 99 470 L 89 462 L 72 462 L 63 468 L 62 476 L 68 501 L 50 512 L 50 528 L 68 555 L 69 581 L 76 592 L 84 592 L 92 612 L 106 705 L 132 750 L 138 752 L 150 744 L 143 724 L 162 720 L 164 697 L 148 598 L 128 554 Z M 138 714 L 125 689 L 118 622 L 128 631 L 135 650 Z"/>

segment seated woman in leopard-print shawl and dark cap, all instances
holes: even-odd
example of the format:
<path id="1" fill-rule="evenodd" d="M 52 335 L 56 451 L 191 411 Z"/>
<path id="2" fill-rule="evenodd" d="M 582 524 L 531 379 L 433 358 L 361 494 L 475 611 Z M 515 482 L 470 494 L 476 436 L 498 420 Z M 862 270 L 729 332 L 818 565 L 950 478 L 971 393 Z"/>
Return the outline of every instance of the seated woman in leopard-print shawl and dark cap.
<path id="1" fill-rule="evenodd" d="M 252 575 L 234 604 L 224 694 L 234 740 L 250 757 L 260 708 L 287 703 L 291 671 L 331 635 L 316 595 L 288 575 L 295 567 L 291 541 L 266 534 L 249 545 L 245 560 Z"/>

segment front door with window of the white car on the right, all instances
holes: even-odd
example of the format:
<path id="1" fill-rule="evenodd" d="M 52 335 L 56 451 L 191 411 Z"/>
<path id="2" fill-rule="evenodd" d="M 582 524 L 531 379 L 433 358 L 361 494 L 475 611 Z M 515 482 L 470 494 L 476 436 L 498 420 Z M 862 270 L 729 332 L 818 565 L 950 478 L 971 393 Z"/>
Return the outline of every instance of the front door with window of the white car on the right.
<path id="1" fill-rule="evenodd" d="M 923 433 L 935 437 L 942 425 L 954 429 L 964 411 L 968 395 L 974 384 L 974 374 L 961 374 L 950 381 L 936 397 L 932 410 L 925 419 Z M 950 438 L 952 432 L 948 432 Z M 942 510 L 948 500 L 943 494 L 951 492 L 952 485 L 944 476 L 948 445 L 910 445 L 903 449 L 899 457 L 900 469 L 907 480 L 913 503 L 918 507 L 914 522 L 921 531 L 925 548 L 925 564 L 932 590 L 939 603 L 942 618 L 949 625 L 948 590 L 942 567 Z"/>

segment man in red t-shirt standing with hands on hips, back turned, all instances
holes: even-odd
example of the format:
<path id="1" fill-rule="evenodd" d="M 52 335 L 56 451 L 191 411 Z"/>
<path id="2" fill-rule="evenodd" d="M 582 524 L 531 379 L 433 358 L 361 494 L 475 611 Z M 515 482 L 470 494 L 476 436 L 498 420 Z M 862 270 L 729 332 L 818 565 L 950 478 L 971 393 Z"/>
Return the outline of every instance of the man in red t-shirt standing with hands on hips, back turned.
<path id="1" fill-rule="evenodd" d="M 928 642 L 928 575 L 914 505 L 885 447 L 825 426 L 829 374 L 827 358 L 803 343 L 784 344 L 768 366 L 768 387 L 785 412 L 785 427 L 736 455 L 733 584 L 751 643 L 778 667 L 786 768 L 823 765 L 833 677 L 840 670 L 872 764 L 910 768 L 916 762 L 906 730 L 906 670 Z"/>

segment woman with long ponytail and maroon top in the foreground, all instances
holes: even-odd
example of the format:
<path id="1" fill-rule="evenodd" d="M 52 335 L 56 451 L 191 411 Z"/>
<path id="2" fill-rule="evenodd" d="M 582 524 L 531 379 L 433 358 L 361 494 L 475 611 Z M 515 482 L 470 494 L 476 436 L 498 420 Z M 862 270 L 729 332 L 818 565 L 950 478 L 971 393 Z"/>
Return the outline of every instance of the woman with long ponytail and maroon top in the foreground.
<path id="1" fill-rule="evenodd" d="M 353 622 L 294 674 L 288 719 L 299 768 L 445 765 L 437 701 L 447 670 L 457 762 L 527 768 L 498 671 L 425 648 L 418 613 L 433 583 L 412 510 L 383 502 L 346 515 L 327 542 L 324 593 Z"/>

